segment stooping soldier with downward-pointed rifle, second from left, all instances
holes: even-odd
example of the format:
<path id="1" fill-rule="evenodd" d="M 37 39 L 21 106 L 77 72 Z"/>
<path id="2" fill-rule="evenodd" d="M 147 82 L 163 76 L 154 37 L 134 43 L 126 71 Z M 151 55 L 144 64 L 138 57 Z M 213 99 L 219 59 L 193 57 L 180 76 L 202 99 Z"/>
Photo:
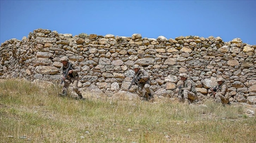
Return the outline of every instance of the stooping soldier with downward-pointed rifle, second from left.
<path id="1" fill-rule="evenodd" d="M 136 84 L 138 84 L 139 94 L 142 95 L 142 90 L 143 88 L 145 88 L 148 94 L 147 99 L 152 98 L 153 96 L 151 95 L 151 91 L 150 91 L 150 78 L 147 71 L 143 68 L 140 68 L 138 64 L 135 64 L 133 66 L 133 70 L 135 72 L 134 76 L 137 76 Z"/>

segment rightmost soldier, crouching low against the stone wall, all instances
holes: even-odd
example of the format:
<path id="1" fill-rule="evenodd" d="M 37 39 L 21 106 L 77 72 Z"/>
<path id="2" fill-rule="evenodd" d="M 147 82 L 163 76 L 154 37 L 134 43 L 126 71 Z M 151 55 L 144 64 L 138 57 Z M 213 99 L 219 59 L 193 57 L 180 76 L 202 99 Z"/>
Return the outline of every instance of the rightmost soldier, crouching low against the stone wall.
<path id="1" fill-rule="evenodd" d="M 218 85 L 214 88 L 210 88 L 210 91 L 213 92 L 212 95 L 215 97 L 216 102 L 227 104 L 230 94 L 228 92 L 226 82 L 222 77 L 220 77 L 217 79 L 217 83 Z"/>

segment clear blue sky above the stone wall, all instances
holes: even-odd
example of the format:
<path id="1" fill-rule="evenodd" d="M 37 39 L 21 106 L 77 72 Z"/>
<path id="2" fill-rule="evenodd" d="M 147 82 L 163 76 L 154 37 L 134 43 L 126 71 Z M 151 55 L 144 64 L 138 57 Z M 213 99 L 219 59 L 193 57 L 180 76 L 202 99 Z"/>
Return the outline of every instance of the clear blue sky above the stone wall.
<path id="1" fill-rule="evenodd" d="M 73 36 L 220 36 L 256 45 L 256 1 L 0 0 L 0 43 L 37 28 Z"/>

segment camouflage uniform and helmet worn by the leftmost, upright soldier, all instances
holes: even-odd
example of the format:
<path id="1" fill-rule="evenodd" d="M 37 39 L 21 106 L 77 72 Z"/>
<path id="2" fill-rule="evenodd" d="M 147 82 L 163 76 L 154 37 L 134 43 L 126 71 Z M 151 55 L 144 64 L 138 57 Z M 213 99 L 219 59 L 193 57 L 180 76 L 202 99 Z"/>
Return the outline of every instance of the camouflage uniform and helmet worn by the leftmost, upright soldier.
<path id="1" fill-rule="evenodd" d="M 62 88 L 62 94 L 63 94 L 63 95 L 66 95 L 66 94 L 67 94 L 67 88 L 68 88 L 69 84 L 72 83 L 72 87 L 73 87 L 75 93 L 77 93 L 80 98 L 83 97 L 83 96 L 81 95 L 81 92 L 80 92 L 79 89 L 78 89 L 78 81 L 79 81 L 78 72 L 80 71 L 80 68 L 78 68 L 78 67 L 75 66 L 74 64 L 70 63 L 70 62 L 68 61 L 68 58 L 67 58 L 67 57 L 61 58 L 60 61 L 67 61 L 67 62 L 68 62 L 67 66 L 64 66 L 64 65 L 62 64 L 62 66 L 61 66 L 61 68 L 60 68 L 60 69 L 61 69 L 60 73 L 61 73 L 62 77 L 65 75 L 66 72 L 68 72 L 68 71 L 66 71 L 66 70 L 67 70 L 69 64 L 71 64 L 71 67 L 72 67 L 72 70 L 73 70 L 73 72 L 72 72 L 71 74 L 68 74 L 67 77 L 65 78 L 65 80 L 63 80 L 64 86 L 63 86 L 63 88 Z"/>

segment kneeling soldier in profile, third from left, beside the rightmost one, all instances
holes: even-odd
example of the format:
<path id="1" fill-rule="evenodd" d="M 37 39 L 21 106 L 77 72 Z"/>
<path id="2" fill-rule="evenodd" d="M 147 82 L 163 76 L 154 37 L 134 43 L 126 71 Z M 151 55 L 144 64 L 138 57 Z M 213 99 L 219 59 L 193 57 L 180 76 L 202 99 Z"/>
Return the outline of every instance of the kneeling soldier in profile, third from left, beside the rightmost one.
<path id="1" fill-rule="evenodd" d="M 179 74 L 181 80 L 183 81 L 183 85 L 181 86 L 181 90 L 183 91 L 184 103 L 188 104 L 188 100 L 193 102 L 197 97 L 197 92 L 195 90 L 195 83 L 191 81 L 189 76 L 186 73 Z"/>

